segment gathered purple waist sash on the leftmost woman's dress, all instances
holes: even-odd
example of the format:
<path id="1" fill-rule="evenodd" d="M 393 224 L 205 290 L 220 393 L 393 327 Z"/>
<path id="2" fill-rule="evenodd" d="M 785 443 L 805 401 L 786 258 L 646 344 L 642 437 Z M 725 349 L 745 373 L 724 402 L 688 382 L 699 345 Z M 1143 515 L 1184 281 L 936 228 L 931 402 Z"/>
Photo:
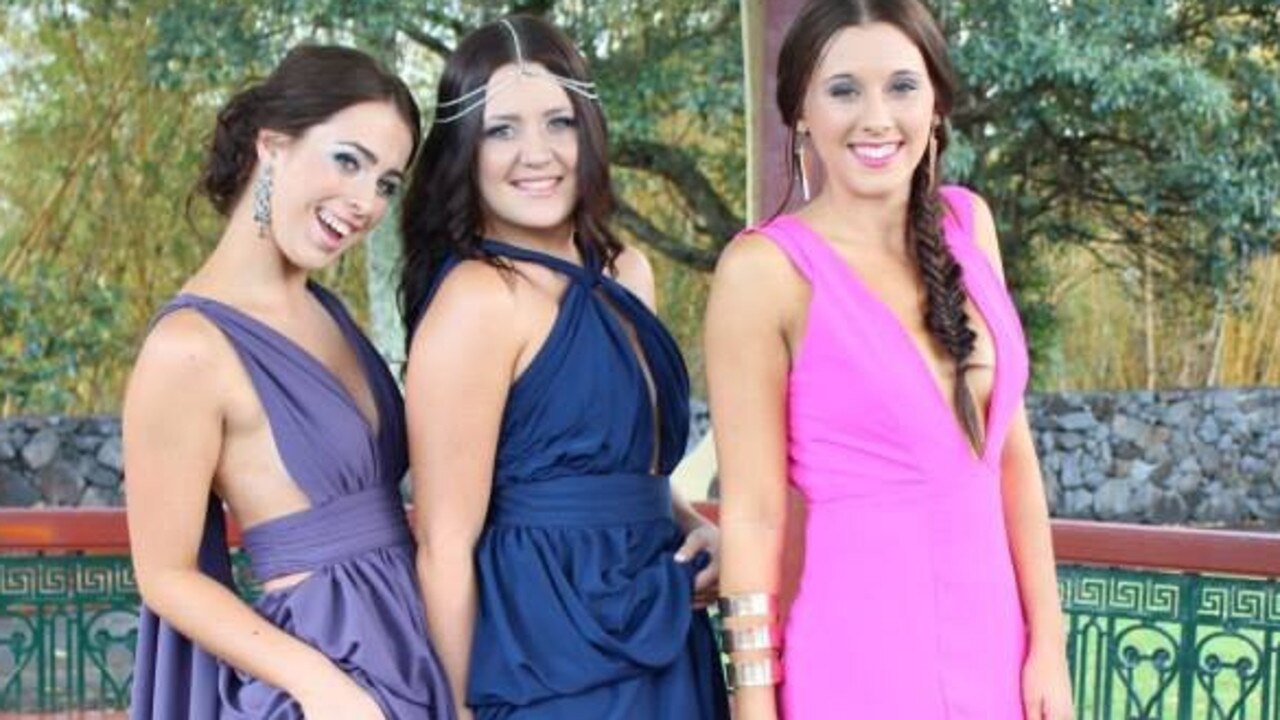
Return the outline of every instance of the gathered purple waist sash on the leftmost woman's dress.
<path id="1" fill-rule="evenodd" d="M 394 488 L 375 487 L 244 530 L 253 574 L 269 580 L 306 573 L 383 547 L 412 544 Z"/>

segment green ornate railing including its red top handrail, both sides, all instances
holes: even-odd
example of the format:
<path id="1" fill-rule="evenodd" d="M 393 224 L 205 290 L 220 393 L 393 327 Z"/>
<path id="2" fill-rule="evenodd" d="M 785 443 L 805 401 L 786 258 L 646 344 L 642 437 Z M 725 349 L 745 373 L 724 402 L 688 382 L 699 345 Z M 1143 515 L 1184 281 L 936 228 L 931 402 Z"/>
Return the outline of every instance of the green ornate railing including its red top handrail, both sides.
<path id="1" fill-rule="evenodd" d="M 123 521 L 88 541 L 79 520 L 76 537 L 36 539 L 0 523 L 0 714 L 128 702 L 138 593 Z M 1280 537 L 1059 521 L 1055 547 L 1080 720 L 1280 720 Z"/>

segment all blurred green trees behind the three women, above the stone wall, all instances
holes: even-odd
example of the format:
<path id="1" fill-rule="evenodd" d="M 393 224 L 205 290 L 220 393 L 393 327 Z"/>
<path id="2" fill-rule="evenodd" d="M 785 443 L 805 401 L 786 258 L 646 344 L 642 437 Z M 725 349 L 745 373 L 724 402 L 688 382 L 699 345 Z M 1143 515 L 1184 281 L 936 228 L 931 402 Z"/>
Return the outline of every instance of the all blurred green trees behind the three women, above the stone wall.
<path id="1" fill-rule="evenodd" d="M 751 0 L 759 1 L 759 0 Z M 506 12 L 588 54 L 617 225 L 701 363 L 708 270 L 744 218 L 735 0 L 9 0 L 0 5 L 0 410 L 110 411 L 136 342 L 207 252 L 184 204 L 218 105 L 300 41 L 364 47 L 424 108 Z M 988 197 L 1042 388 L 1280 383 L 1280 8 L 934 0 L 964 92 L 948 174 Z M 777 172 L 782 172 L 778 169 Z M 390 224 L 324 282 L 396 360 Z"/>

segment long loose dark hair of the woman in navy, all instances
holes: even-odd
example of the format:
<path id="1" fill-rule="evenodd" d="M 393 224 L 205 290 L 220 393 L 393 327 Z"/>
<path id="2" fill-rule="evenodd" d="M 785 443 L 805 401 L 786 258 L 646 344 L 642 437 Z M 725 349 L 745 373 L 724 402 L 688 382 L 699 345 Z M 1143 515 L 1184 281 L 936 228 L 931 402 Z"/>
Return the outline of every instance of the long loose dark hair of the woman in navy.
<path id="1" fill-rule="evenodd" d="M 577 47 L 556 26 L 534 15 L 506 18 L 520 37 L 526 63 L 539 63 L 561 77 L 590 82 L 586 61 Z M 492 22 L 467 35 L 449 55 L 440 77 L 436 106 L 483 92 L 494 70 L 516 61 L 516 47 L 502 22 Z M 577 202 L 573 206 L 575 241 L 584 258 L 595 258 L 605 266 L 622 251 L 622 243 L 609 231 L 613 190 L 609 182 L 608 133 L 600 105 L 576 92 L 566 92 L 577 119 Z M 438 117 L 456 106 L 445 106 Z M 422 154 L 411 173 L 401 205 L 403 264 L 399 300 L 406 342 L 413 328 L 442 263 L 449 255 L 484 259 L 502 265 L 481 250 L 483 211 L 475 168 L 484 135 L 484 109 L 448 122 L 435 123 L 422 143 Z"/>

